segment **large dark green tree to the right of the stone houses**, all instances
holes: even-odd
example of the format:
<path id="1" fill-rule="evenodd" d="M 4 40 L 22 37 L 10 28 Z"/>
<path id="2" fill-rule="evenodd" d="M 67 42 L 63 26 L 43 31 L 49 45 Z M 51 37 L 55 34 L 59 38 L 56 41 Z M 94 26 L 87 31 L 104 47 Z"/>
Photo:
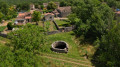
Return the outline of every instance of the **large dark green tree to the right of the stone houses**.
<path id="1" fill-rule="evenodd" d="M 84 5 L 73 8 L 73 13 L 79 19 L 76 23 L 76 35 L 83 35 L 84 40 L 90 38 L 91 43 L 107 33 L 114 19 L 111 8 L 97 0 L 84 1 Z"/>

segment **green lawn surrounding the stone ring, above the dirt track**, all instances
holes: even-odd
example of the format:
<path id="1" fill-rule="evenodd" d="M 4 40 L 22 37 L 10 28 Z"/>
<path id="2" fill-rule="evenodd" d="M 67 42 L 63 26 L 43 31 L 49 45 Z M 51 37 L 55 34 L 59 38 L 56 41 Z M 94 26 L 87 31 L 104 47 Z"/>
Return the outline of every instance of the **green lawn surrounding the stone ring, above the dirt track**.
<path id="1" fill-rule="evenodd" d="M 62 55 L 67 56 L 67 57 L 72 57 L 72 58 L 80 57 L 79 51 L 77 49 L 78 45 L 75 43 L 74 36 L 72 34 L 73 32 L 48 35 L 48 39 L 46 40 L 47 43 L 42 46 L 43 48 L 41 49 L 41 51 L 44 53 L 61 55 L 61 54 L 52 52 L 50 50 L 51 44 L 55 41 L 65 41 L 69 44 L 69 52 L 67 54 L 62 54 Z"/>

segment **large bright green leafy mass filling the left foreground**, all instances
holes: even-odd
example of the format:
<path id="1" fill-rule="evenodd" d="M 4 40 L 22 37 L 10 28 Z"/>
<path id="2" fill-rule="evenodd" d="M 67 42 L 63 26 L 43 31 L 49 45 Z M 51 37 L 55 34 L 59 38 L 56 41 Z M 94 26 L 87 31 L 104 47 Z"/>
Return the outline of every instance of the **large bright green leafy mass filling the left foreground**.
<path id="1" fill-rule="evenodd" d="M 11 32 L 8 35 L 11 42 L 0 49 L 0 66 L 38 67 L 42 65 L 38 54 L 45 43 L 43 31 L 39 26 L 27 24 Z"/>

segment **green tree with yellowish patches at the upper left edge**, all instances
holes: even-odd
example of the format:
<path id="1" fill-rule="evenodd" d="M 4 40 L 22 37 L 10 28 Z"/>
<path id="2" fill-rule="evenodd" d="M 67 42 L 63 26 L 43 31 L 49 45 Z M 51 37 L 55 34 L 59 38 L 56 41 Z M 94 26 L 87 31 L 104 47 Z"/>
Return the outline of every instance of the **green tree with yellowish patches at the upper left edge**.
<path id="1" fill-rule="evenodd" d="M 1 20 L 9 20 L 17 16 L 17 12 L 13 5 L 8 5 L 5 2 L 0 2 L 0 22 Z"/>

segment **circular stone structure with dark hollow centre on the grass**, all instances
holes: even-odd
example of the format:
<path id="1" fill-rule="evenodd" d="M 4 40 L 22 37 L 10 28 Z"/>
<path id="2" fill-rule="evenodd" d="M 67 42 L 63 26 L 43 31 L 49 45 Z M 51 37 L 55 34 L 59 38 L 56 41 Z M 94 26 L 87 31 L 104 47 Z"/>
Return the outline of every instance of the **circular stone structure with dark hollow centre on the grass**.
<path id="1" fill-rule="evenodd" d="M 64 41 L 56 41 L 52 43 L 51 50 L 58 53 L 68 53 L 68 44 Z"/>

